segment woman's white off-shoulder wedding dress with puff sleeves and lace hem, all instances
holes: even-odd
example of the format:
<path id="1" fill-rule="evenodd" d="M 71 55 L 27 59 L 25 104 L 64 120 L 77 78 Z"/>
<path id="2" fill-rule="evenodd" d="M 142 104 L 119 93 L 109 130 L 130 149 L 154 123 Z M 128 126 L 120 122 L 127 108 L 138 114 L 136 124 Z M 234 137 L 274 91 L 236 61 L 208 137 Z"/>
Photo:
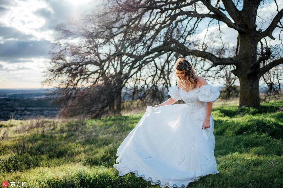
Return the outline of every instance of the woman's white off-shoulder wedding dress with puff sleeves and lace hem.
<path id="1" fill-rule="evenodd" d="M 168 94 L 173 104 L 153 108 L 145 114 L 118 148 L 114 167 L 123 176 L 133 172 L 138 177 L 159 184 L 160 187 L 187 187 L 201 176 L 215 174 L 214 123 L 202 129 L 206 102 L 212 102 L 219 91 L 203 85 L 186 92 L 177 86 Z"/>

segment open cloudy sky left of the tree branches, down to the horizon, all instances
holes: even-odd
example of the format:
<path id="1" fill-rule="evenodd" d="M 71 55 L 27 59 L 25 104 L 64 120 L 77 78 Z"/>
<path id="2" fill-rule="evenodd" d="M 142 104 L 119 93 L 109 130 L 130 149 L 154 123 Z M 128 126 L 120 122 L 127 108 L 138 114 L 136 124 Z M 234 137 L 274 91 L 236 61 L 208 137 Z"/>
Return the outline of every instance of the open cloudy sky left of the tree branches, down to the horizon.
<path id="1" fill-rule="evenodd" d="M 0 0 L 0 89 L 42 88 L 55 26 L 92 5 L 90 0 Z"/>

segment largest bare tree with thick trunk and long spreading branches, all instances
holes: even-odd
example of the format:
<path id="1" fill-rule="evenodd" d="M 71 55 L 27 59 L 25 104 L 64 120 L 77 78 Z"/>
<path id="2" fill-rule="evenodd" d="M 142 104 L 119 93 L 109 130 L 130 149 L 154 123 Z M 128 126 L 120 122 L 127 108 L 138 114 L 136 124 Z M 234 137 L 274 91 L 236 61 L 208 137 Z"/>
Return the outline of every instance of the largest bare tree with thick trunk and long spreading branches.
<path id="1" fill-rule="evenodd" d="M 134 94 L 142 94 L 139 89 L 144 85 L 144 96 L 150 91 L 156 96 L 153 98 L 162 100 L 154 91 L 171 85 L 169 70 L 179 57 L 195 59 L 193 64 L 200 75 L 205 75 L 203 70 L 231 65 L 240 82 L 239 107 L 259 106 L 259 79 L 283 63 L 283 9 L 276 1 L 276 12 L 270 19 L 259 15 L 260 6 L 268 4 L 261 0 L 100 2 L 80 24 L 69 22 L 57 27 L 60 36 L 45 83 L 64 88 L 64 106 L 82 88 L 108 87 L 104 82 L 110 82 L 107 78 L 112 76 L 120 81 L 114 82 L 117 92 L 105 106 L 111 106 L 127 85 L 133 87 Z M 223 26 L 238 33 L 231 47 L 233 53 L 225 53 Z M 207 33 L 200 39 L 203 28 Z M 210 31 L 218 36 L 214 41 L 206 40 Z"/>

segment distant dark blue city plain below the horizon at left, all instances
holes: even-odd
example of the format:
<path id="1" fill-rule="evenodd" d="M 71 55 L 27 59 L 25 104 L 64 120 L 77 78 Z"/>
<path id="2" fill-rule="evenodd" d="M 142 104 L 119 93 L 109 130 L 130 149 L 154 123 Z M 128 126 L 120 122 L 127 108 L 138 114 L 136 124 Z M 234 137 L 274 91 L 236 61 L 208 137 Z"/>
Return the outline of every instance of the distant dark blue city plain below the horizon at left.
<path id="1" fill-rule="evenodd" d="M 57 114 L 46 89 L 0 89 L 1 121 L 54 118 Z"/>

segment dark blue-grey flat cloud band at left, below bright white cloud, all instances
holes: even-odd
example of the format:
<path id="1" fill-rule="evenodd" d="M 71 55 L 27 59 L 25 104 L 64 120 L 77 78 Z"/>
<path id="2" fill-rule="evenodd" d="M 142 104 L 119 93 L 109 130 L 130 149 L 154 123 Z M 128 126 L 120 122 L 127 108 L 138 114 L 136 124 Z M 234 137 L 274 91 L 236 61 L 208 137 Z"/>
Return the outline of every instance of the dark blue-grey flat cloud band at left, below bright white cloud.
<path id="1" fill-rule="evenodd" d="M 5 57 L 40 57 L 47 56 L 50 42 L 41 41 L 6 41 L 0 44 L 0 59 Z"/>

